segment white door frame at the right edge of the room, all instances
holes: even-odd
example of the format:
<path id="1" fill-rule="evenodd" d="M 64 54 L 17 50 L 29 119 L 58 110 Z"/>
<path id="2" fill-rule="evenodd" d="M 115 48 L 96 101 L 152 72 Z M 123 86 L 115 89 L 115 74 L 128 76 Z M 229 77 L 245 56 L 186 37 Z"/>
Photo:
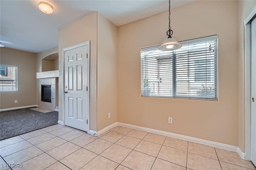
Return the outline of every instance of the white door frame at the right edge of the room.
<path id="1" fill-rule="evenodd" d="M 256 17 L 256 7 L 244 20 L 245 28 L 245 160 L 251 158 L 251 59 L 252 59 L 252 45 L 251 45 L 251 21 Z"/>

